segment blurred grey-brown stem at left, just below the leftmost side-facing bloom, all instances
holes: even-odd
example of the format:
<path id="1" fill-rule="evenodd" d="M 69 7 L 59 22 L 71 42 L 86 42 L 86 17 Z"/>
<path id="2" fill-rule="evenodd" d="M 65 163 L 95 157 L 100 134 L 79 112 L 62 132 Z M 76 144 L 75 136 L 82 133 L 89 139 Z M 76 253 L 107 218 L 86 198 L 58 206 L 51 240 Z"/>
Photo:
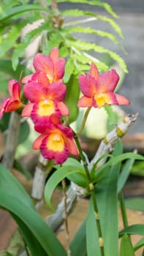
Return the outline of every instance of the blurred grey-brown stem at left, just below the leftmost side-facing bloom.
<path id="1" fill-rule="evenodd" d="M 9 170 L 12 168 L 14 162 L 15 151 L 18 146 L 19 130 L 20 115 L 16 112 L 12 112 L 10 116 L 10 123 L 8 128 L 4 157 L 2 159 L 2 164 Z"/>

